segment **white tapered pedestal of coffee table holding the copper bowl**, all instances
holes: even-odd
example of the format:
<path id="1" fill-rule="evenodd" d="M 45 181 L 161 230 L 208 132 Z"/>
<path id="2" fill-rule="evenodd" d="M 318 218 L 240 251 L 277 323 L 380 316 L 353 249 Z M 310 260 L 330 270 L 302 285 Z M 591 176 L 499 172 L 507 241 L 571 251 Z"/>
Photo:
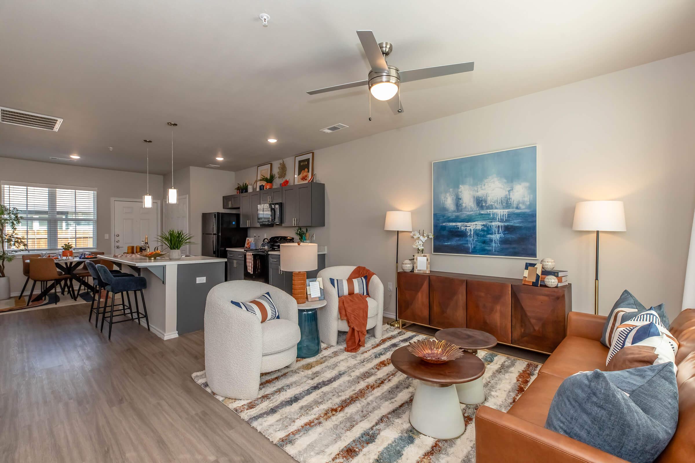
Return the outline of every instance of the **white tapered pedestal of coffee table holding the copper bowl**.
<path id="1" fill-rule="evenodd" d="M 455 385 L 418 381 L 410 410 L 410 424 L 435 439 L 455 439 L 466 424 Z"/>

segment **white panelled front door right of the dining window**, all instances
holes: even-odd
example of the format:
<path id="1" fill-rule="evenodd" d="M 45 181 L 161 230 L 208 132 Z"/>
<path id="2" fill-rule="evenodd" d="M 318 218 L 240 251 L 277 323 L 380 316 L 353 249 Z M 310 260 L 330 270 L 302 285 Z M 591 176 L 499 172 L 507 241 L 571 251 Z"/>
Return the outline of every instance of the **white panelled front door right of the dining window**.
<path id="1" fill-rule="evenodd" d="M 147 236 L 149 247 L 157 246 L 158 203 L 143 208 L 141 201 L 113 202 L 113 252 L 124 253 L 128 246 L 139 246 Z"/>

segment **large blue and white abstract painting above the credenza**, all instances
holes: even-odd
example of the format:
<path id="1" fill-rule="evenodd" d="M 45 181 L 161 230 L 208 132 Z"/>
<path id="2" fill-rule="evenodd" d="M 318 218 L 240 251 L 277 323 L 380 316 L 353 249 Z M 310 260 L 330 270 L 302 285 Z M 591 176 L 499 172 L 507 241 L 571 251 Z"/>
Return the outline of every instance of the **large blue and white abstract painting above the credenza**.
<path id="1" fill-rule="evenodd" d="M 433 162 L 432 251 L 537 258 L 536 149 Z"/>

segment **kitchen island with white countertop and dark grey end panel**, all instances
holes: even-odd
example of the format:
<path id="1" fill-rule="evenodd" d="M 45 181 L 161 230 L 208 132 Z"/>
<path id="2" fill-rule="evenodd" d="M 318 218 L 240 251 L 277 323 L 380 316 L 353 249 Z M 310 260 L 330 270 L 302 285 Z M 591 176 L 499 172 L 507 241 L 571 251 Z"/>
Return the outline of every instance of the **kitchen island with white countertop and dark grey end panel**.
<path id="1" fill-rule="evenodd" d="M 143 289 L 143 294 L 149 328 L 162 339 L 203 329 L 208 292 L 224 282 L 224 264 L 227 262 L 226 259 L 199 255 L 179 260 L 147 260 L 140 255 L 117 258 L 100 255 L 99 258 L 111 260 L 125 273 L 145 277 L 147 288 Z M 145 326 L 145 321 L 140 325 Z"/>

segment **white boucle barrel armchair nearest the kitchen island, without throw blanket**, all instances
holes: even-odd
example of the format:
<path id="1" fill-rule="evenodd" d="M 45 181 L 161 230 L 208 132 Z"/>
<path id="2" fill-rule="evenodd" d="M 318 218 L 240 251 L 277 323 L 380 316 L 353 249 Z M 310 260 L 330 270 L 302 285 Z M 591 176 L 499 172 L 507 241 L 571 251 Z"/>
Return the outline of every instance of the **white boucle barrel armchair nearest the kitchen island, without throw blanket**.
<path id="1" fill-rule="evenodd" d="M 280 318 L 263 323 L 231 304 L 270 292 Z M 210 389 L 224 397 L 258 396 L 261 373 L 297 360 L 300 328 L 297 301 L 274 286 L 257 281 L 227 281 L 213 287 L 205 303 L 205 371 Z"/>

